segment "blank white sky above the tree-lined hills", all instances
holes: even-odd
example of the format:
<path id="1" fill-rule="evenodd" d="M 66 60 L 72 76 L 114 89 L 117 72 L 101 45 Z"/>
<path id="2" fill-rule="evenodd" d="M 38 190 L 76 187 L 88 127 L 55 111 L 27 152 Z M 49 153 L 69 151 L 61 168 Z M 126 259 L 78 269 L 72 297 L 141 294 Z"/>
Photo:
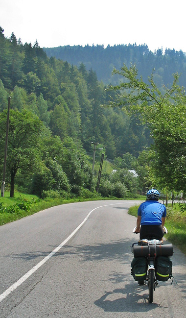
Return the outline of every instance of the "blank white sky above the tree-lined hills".
<path id="1" fill-rule="evenodd" d="M 42 48 L 136 42 L 186 52 L 185 9 L 185 0 L 0 0 L 0 26 Z"/>

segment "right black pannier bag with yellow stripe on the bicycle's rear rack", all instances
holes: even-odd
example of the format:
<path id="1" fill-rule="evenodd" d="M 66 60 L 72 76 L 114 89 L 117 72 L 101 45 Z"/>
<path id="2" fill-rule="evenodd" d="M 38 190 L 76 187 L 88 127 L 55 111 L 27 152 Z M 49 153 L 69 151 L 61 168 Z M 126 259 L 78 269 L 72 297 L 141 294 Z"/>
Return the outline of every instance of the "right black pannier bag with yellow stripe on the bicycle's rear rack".
<path id="1" fill-rule="evenodd" d="M 157 256 L 155 269 L 157 280 L 166 282 L 172 277 L 172 261 L 168 256 Z"/>

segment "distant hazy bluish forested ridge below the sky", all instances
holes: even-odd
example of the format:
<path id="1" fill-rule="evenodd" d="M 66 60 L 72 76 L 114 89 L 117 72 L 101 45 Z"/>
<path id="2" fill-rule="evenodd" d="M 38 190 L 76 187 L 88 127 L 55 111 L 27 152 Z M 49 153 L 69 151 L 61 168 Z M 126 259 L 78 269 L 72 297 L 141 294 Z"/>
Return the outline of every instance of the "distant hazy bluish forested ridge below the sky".
<path id="1" fill-rule="evenodd" d="M 157 49 L 152 52 L 146 44 L 133 45 L 108 45 L 104 48 L 102 45 L 96 46 L 65 46 L 58 48 L 45 48 L 47 56 L 55 56 L 57 59 L 68 61 L 70 64 L 79 65 L 83 62 L 87 70 L 91 68 L 96 72 L 98 80 L 104 84 L 118 84 L 122 77 L 112 76 L 114 67 L 118 70 L 123 63 L 130 66 L 130 63 L 136 64 L 138 73 L 142 75 L 143 80 L 147 82 L 148 76 L 154 72 L 154 81 L 158 87 L 172 84 L 172 73 L 181 73 L 180 85 L 186 87 L 186 54 L 180 50 Z"/>

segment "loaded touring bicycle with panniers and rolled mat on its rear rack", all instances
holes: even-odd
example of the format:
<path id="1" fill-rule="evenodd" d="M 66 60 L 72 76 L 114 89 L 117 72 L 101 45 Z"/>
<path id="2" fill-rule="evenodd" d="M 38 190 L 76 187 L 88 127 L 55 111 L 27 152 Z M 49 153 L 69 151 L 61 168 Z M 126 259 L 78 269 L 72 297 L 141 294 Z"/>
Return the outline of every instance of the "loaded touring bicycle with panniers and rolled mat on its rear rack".
<path id="1" fill-rule="evenodd" d="M 163 229 L 164 229 L 164 233 L 166 234 L 167 233 L 166 227 L 164 226 Z M 139 234 L 135 231 L 136 231 L 136 227 L 134 228 L 133 233 Z M 149 303 L 152 303 L 154 291 L 156 289 L 156 286 L 158 286 L 158 280 L 167 281 L 168 278 L 172 277 L 172 262 L 169 260 L 169 257 L 173 255 L 173 246 L 172 244 L 163 245 L 162 241 L 157 240 L 154 237 L 148 237 L 144 240 L 140 240 L 136 244 L 133 244 L 132 252 L 134 254 L 134 258 L 140 258 L 140 257 L 145 258 L 145 262 L 146 262 L 145 272 L 143 269 L 142 273 L 135 273 L 136 276 L 134 276 L 134 271 L 132 269 L 131 274 L 134 276 L 135 280 L 138 280 L 139 286 L 144 286 L 147 281 L 148 292 L 149 292 Z M 161 269 L 161 267 L 158 265 L 157 259 L 159 259 L 160 256 L 164 257 L 166 269 Z"/>

